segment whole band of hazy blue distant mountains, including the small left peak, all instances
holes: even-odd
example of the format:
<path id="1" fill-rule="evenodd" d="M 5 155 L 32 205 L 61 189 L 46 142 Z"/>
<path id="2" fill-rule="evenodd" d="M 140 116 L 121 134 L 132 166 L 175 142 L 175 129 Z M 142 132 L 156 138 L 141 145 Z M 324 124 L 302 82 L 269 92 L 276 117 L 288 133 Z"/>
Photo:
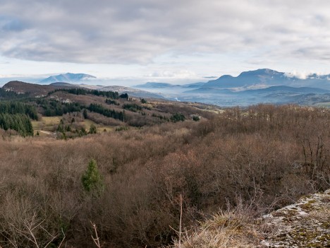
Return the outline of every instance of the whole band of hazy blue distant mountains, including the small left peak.
<path id="1" fill-rule="evenodd" d="M 128 93 L 138 98 L 167 98 L 188 102 L 203 102 L 220 106 L 255 105 L 262 102 L 274 104 L 296 103 L 300 105 L 330 106 L 330 75 L 311 74 L 305 78 L 271 69 L 244 71 L 238 76 L 224 75 L 207 82 L 188 83 L 185 85 L 148 82 L 125 86 L 88 85 L 94 76 L 84 73 L 66 73 L 50 76 L 37 84 L 22 86 L 11 82 L 6 88 L 16 88 L 18 92 L 37 92 L 42 94 L 49 88 L 89 88 L 112 90 Z M 25 90 L 22 90 L 25 89 Z M 28 90 L 26 90 L 28 89 Z"/>

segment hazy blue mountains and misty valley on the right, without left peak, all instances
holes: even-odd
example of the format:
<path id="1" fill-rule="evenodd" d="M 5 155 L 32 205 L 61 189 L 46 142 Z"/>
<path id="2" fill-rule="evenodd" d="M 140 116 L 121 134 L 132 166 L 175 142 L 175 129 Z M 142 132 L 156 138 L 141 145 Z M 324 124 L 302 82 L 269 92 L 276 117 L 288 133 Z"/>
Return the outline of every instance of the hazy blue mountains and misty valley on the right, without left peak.
<path id="1" fill-rule="evenodd" d="M 329 102 L 330 105 L 330 75 L 311 74 L 306 78 L 298 78 L 271 69 L 244 71 L 238 76 L 224 75 L 205 83 L 145 83 L 135 87 L 162 90 L 171 99 L 224 106 L 253 105 L 260 102 L 302 105 Z"/>

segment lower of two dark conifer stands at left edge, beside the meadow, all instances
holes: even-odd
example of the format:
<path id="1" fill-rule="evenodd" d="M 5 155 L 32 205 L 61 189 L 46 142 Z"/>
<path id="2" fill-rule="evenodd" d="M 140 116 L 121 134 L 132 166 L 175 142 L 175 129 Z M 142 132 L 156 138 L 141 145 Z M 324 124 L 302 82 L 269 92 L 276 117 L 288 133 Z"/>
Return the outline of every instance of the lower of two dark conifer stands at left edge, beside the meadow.
<path id="1" fill-rule="evenodd" d="M 29 117 L 25 114 L 0 113 L 0 128 L 15 130 L 21 136 L 33 136 L 33 127 Z"/>

